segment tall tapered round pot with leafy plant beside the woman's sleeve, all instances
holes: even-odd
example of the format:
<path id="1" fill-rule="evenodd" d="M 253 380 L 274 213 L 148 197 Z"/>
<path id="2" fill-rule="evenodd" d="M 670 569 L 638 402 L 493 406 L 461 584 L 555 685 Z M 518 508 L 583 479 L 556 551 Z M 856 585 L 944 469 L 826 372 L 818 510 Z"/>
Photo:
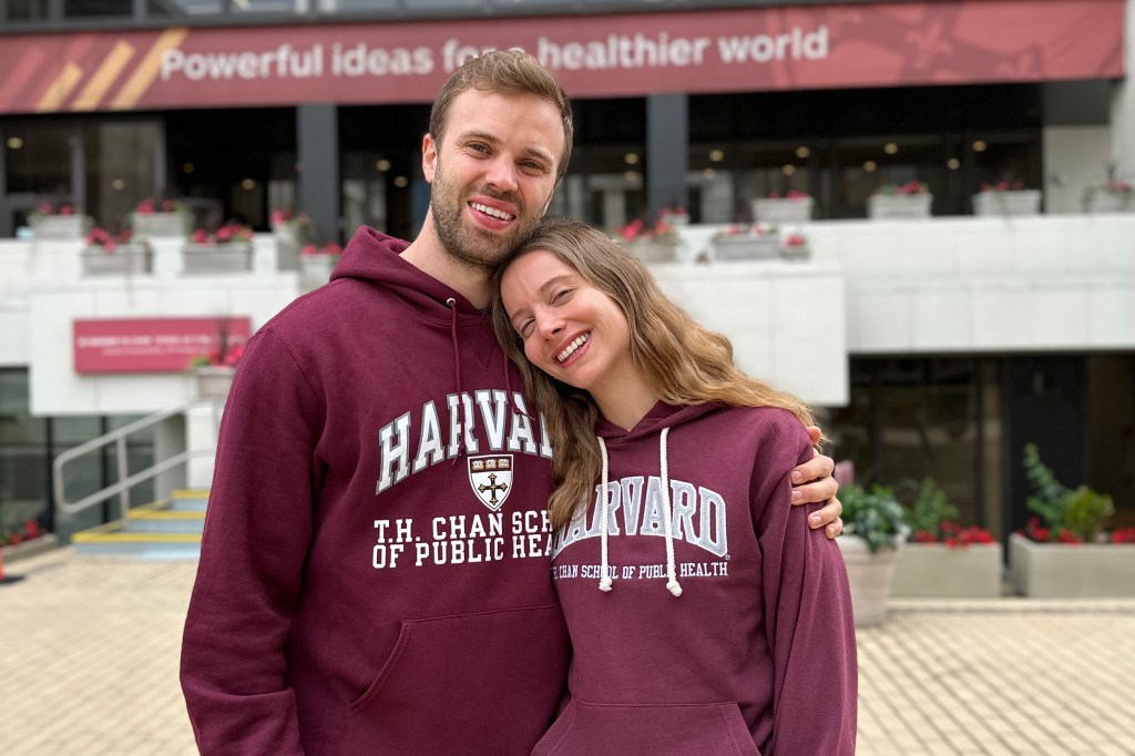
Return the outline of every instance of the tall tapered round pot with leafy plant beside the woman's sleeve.
<path id="1" fill-rule="evenodd" d="M 902 506 L 890 488 L 840 488 L 843 534 L 836 538 L 847 565 L 856 627 L 878 624 L 886 604 L 899 547 L 906 539 Z"/>

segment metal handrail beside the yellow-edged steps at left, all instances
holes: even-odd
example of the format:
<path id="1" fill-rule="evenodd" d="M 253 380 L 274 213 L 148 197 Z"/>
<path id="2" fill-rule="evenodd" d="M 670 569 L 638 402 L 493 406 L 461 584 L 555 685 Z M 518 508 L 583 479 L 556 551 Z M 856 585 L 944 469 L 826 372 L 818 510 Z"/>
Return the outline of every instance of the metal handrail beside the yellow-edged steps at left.
<path id="1" fill-rule="evenodd" d="M 204 405 L 209 405 L 212 408 L 213 430 L 216 430 L 220 425 L 222 401 L 219 398 L 193 398 L 186 402 L 182 402 L 176 406 L 171 406 L 165 410 L 159 410 L 153 414 L 149 414 L 140 420 L 135 420 L 134 422 L 127 423 L 121 428 L 116 428 L 115 430 L 106 432 L 99 436 L 98 438 L 92 438 L 91 440 L 79 444 L 74 448 L 69 448 L 59 456 L 57 456 L 54 461 L 51 463 L 51 473 L 52 473 L 51 477 L 56 493 L 56 505 L 68 514 L 75 514 L 76 512 L 81 512 L 87 509 L 89 506 L 93 506 L 94 504 L 111 498 L 112 496 L 118 496 L 123 521 L 125 522 L 126 520 L 128 520 L 131 516 L 131 488 L 133 488 L 140 482 L 150 480 L 151 478 L 155 478 L 166 470 L 183 464 L 188 460 L 199 456 L 213 455 L 217 453 L 217 450 L 216 447 L 186 450 L 184 452 L 178 452 L 177 454 L 167 457 L 165 460 L 160 460 L 159 462 L 155 462 L 145 470 L 141 470 L 138 472 L 135 472 L 134 474 L 128 474 L 127 459 L 126 459 L 127 437 L 131 436 L 132 434 L 137 432 L 138 430 L 149 428 L 176 414 L 184 414 L 188 410 Z M 96 490 L 95 493 L 90 494 L 89 496 L 84 496 L 77 502 L 68 502 L 67 497 L 64 494 L 64 465 L 85 454 L 100 451 L 108 444 L 115 444 L 115 450 L 117 452 L 116 456 L 118 457 L 117 459 L 118 482 L 107 486 L 106 488 L 102 488 L 100 490 Z"/>

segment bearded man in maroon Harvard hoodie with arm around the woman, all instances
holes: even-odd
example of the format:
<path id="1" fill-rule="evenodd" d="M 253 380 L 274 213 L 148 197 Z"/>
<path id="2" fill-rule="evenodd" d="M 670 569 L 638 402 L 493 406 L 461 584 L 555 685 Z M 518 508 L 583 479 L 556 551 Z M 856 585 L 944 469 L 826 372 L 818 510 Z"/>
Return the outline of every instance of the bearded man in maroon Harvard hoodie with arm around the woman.
<path id="1" fill-rule="evenodd" d="M 202 753 L 528 754 L 550 722 L 569 658 L 552 450 L 480 308 L 571 133 L 535 59 L 470 61 L 422 142 L 418 238 L 360 229 L 331 283 L 250 342 L 183 645 Z M 817 512 L 832 535 L 838 513 Z"/>

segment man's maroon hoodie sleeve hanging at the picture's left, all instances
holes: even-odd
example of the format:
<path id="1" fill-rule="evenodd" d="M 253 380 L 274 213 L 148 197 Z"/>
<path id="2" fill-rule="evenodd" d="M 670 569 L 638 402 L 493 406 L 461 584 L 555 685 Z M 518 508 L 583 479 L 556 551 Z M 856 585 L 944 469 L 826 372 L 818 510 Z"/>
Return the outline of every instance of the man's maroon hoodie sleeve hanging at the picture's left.
<path id="1" fill-rule="evenodd" d="M 302 754 L 284 646 L 312 536 L 313 390 L 269 330 L 241 360 L 221 422 L 182 689 L 202 754 Z"/>

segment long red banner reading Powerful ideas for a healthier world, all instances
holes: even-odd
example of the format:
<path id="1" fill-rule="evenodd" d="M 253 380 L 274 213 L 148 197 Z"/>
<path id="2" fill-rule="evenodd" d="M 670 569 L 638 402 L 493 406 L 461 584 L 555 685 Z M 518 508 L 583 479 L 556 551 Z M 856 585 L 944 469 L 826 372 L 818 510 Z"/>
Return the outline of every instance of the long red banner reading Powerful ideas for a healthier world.
<path id="1" fill-rule="evenodd" d="M 429 102 L 522 48 L 573 98 L 1118 78 L 1124 0 L 956 0 L 0 37 L 0 114 Z"/>

